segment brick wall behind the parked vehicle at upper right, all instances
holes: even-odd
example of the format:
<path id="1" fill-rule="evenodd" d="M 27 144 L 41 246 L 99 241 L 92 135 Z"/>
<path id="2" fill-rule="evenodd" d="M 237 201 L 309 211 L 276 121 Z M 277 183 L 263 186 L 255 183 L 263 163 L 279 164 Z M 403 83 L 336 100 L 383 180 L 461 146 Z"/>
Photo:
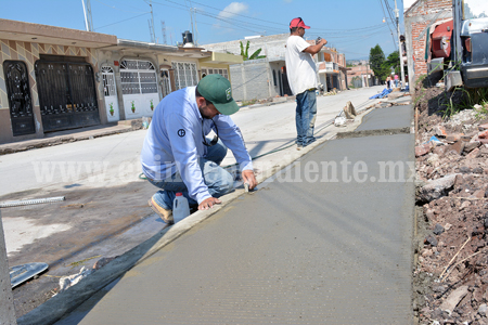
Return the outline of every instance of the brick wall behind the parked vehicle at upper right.
<path id="1" fill-rule="evenodd" d="M 452 17 L 451 0 L 420 0 L 404 12 L 409 83 L 427 74 L 425 47 L 427 28 L 435 22 Z"/>

